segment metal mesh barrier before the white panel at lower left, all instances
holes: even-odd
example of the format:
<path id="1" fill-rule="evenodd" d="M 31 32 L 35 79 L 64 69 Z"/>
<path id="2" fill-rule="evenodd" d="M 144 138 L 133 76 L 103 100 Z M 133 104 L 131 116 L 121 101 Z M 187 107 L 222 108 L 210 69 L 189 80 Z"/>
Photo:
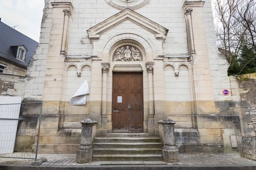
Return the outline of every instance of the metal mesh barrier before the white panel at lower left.
<path id="1" fill-rule="evenodd" d="M 0 104 L 0 157 L 37 161 L 41 118 L 42 102 Z"/>

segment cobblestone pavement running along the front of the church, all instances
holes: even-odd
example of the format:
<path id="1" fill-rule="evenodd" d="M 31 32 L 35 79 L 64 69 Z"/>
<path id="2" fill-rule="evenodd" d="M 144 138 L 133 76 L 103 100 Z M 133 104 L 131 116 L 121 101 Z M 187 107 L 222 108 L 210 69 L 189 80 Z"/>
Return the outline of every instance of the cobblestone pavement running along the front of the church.
<path id="1" fill-rule="evenodd" d="M 31 164 L 31 159 L 17 159 L 17 158 L 2 158 L 5 157 L 32 157 L 33 153 L 11 153 L 0 154 L 0 164 Z M 47 162 L 44 165 L 124 165 L 124 164 L 166 164 L 161 161 L 126 161 L 126 162 L 112 162 L 101 161 L 91 162 L 87 164 L 76 163 L 76 154 L 38 154 L 38 158 L 46 157 Z M 178 165 L 254 165 L 256 161 L 242 158 L 239 154 L 234 153 L 180 153 Z"/>

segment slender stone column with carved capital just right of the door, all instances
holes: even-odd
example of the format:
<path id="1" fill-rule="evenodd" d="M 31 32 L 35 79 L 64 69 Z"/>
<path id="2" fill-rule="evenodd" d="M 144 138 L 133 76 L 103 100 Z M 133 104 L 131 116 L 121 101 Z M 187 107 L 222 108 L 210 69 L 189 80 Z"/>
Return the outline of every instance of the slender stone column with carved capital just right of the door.
<path id="1" fill-rule="evenodd" d="M 154 97 L 153 97 L 153 70 L 154 62 L 147 62 L 146 68 L 148 72 L 148 98 L 149 98 L 149 117 L 148 117 L 148 133 L 155 134 L 154 119 Z"/>

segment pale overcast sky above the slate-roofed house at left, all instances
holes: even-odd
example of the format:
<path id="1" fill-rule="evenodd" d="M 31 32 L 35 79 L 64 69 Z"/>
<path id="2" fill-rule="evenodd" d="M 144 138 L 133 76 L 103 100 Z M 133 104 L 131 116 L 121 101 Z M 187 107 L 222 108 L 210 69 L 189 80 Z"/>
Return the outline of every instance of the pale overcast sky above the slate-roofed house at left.
<path id="1" fill-rule="evenodd" d="M 39 42 L 44 0 L 0 0 L 1 22 Z"/>

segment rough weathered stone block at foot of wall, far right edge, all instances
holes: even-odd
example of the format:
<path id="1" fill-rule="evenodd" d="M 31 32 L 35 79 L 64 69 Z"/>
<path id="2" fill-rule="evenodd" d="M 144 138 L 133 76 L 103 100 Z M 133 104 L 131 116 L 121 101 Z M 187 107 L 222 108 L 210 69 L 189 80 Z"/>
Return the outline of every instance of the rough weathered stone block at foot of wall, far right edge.
<path id="1" fill-rule="evenodd" d="M 256 160 L 256 137 L 243 136 L 241 156 Z"/>

